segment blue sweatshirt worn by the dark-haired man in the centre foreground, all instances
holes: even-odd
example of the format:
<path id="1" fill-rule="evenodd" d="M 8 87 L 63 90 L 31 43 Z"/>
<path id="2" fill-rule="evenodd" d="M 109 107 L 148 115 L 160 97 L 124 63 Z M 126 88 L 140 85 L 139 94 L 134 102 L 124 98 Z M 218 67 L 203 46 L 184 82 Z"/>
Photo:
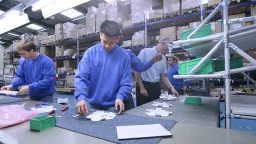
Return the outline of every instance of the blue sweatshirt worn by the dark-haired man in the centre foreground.
<path id="1" fill-rule="evenodd" d="M 131 60 L 118 45 L 107 52 L 101 43 L 89 48 L 83 55 L 75 75 L 75 98 L 98 106 L 115 105 L 123 101 L 133 88 Z"/>

